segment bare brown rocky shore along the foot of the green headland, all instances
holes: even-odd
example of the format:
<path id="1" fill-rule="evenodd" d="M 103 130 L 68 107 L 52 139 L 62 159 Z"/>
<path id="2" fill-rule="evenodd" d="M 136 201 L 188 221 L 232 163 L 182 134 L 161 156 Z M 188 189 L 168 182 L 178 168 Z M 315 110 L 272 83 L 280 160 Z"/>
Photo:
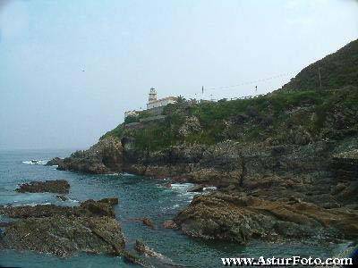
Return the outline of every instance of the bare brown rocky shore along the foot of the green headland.
<path id="1" fill-rule="evenodd" d="M 217 187 L 209 195 L 195 197 L 174 222 L 167 224 L 186 235 L 239 244 L 251 239 L 358 238 L 356 154 L 335 155 L 337 144 L 277 146 L 267 142 L 243 146 L 226 142 L 141 155 L 128 149 L 125 142 L 109 138 L 95 147 L 101 148 L 95 155 L 93 148 L 72 154 L 57 163 L 58 169 L 132 172 L 193 182 L 200 184 L 199 191 L 204 186 Z M 115 152 L 113 158 L 105 153 L 108 151 Z M 113 163 L 118 161 L 117 155 L 122 155 L 122 162 L 116 168 L 106 166 L 103 159 Z M 99 163 L 83 167 L 93 161 Z M 100 168 L 94 170 L 96 167 Z"/>

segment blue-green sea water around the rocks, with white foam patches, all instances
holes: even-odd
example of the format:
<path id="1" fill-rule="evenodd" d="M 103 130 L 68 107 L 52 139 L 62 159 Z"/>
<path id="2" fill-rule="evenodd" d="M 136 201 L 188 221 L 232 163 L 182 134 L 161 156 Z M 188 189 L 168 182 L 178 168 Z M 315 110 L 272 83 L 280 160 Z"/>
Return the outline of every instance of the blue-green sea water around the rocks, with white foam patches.
<path id="1" fill-rule="evenodd" d="M 190 185 L 174 185 L 166 188 L 165 180 L 149 180 L 131 174 L 85 175 L 61 172 L 53 166 L 30 164 L 30 160 L 47 160 L 70 155 L 68 150 L 17 150 L 0 151 L 0 205 L 78 205 L 89 198 L 118 197 L 120 205 L 115 207 L 117 219 L 121 222 L 129 249 L 136 239 L 143 240 L 149 247 L 168 256 L 176 264 L 190 267 L 220 267 L 221 257 L 237 256 L 291 256 L 312 255 L 325 257 L 336 255 L 343 247 L 321 241 L 319 245 L 266 244 L 252 242 L 241 247 L 231 243 L 219 243 L 190 239 L 177 230 L 150 230 L 132 219 L 151 218 L 158 227 L 171 219 L 192 200 L 186 193 Z M 68 180 L 71 191 L 69 201 L 59 201 L 55 194 L 21 194 L 14 191 L 17 185 L 30 180 Z M 0 251 L 0 266 L 15 267 L 133 267 L 124 264 L 121 257 L 107 255 L 74 255 L 58 258 L 54 255 L 39 255 L 33 252 Z"/>

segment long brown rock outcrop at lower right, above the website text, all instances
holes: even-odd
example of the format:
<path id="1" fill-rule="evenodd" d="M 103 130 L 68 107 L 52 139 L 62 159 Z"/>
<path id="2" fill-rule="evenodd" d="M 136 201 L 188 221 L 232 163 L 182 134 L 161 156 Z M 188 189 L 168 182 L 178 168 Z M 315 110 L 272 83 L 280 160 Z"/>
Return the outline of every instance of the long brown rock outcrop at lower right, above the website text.
<path id="1" fill-rule="evenodd" d="M 293 200 L 268 201 L 246 194 L 215 193 L 194 197 L 175 217 L 185 234 L 245 244 L 251 239 L 353 239 L 358 237 L 358 212 L 324 209 Z"/>

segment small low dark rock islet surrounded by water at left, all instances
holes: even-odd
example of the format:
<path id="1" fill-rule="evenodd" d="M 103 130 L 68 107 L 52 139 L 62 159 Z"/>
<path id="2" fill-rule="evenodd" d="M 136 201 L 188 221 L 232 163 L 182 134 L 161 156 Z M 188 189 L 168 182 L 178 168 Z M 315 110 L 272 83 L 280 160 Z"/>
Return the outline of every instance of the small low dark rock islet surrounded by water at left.
<path id="1" fill-rule="evenodd" d="M 70 189 L 70 184 L 67 180 L 45 180 L 45 181 L 31 181 L 30 183 L 23 183 L 16 191 L 20 193 L 58 193 L 67 194 Z"/>

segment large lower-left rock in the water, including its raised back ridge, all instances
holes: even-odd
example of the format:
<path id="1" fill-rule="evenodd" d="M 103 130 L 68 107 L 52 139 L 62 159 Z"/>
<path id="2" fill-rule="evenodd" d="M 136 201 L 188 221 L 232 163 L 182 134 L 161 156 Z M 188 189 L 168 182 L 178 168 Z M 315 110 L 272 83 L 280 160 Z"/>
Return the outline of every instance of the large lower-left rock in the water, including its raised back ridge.
<path id="1" fill-rule="evenodd" d="M 78 207 L 1 207 L 0 214 L 17 220 L 4 227 L 0 247 L 63 257 L 78 252 L 122 255 L 124 236 L 115 220 L 113 201 L 87 200 Z"/>

